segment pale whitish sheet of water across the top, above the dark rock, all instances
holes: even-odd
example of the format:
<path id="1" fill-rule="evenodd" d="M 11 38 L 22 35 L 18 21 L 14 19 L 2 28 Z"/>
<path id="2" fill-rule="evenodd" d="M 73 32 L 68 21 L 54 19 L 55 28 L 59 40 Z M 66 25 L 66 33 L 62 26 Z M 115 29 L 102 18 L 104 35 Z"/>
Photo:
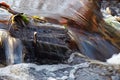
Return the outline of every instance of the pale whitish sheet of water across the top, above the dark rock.
<path id="1" fill-rule="evenodd" d="M 83 6 L 89 3 L 88 0 L 4 0 L 10 3 L 13 9 L 30 15 L 45 17 L 68 17 L 75 21 L 81 20 L 87 9 Z M 51 4 L 52 3 L 52 4 Z M 26 5 L 27 4 L 27 5 Z M 90 3 L 91 4 L 91 3 Z M 80 21 L 82 22 L 82 20 Z"/>

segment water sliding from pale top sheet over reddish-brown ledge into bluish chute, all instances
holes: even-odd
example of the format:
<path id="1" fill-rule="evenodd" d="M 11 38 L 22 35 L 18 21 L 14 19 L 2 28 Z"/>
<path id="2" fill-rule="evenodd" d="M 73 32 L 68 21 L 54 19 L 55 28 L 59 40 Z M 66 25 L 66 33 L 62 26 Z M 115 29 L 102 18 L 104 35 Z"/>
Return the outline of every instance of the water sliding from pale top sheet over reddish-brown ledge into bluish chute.
<path id="1" fill-rule="evenodd" d="M 92 0 L 11 0 L 7 2 L 19 12 L 57 20 L 65 17 L 78 24 L 74 26 L 71 22 L 68 29 L 78 43 L 81 53 L 88 57 L 105 61 L 112 54 L 119 52 L 119 49 L 110 41 L 96 33 L 99 27 L 98 22 L 101 19 L 98 18 L 100 14 L 95 16 L 96 10 L 99 8 L 95 7 Z"/>

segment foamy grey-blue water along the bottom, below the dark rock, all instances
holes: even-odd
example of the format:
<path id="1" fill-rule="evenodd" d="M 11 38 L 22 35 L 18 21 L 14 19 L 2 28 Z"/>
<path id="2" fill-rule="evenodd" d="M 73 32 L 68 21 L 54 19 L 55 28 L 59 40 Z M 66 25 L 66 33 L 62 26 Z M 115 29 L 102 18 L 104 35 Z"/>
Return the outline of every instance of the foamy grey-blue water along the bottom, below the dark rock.
<path id="1" fill-rule="evenodd" d="M 17 64 L 0 69 L 0 80 L 119 80 L 119 66 L 115 67 L 78 54 L 86 62 L 77 64 L 36 65 Z M 72 58 L 71 58 L 72 59 Z M 74 62 L 74 59 L 71 60 Z"/>

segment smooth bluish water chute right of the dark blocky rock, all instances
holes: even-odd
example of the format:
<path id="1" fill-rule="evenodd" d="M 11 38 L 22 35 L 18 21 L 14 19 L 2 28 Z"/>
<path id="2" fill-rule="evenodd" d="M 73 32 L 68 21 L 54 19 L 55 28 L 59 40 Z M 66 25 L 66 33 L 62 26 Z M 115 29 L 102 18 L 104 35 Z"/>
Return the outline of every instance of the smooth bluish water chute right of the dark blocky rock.
<path id="1" fill-rule="evenodd" d="M 80 34 L 77 33 L 77 30 L 75 31 L 76 33 L 72 33 L 72 35 L 77 41 L 77 44 L 79 44 L 78 47 L 81 53 L 84 55 L 93 59 L 106 61 L 106 59 L 110 58 L 113 54 L 119 53 L 119 49 L 99 34 L 91 34 L 85 31 L 81 31 Z"/>

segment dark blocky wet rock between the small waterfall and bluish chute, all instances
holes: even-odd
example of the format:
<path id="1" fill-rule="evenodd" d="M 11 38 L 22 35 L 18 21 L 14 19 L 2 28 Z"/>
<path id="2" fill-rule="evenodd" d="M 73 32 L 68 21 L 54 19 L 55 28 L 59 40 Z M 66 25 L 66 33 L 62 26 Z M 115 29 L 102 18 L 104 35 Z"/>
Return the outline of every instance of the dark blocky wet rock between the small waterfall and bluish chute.
<path id="1" fill-rule="evenodd" d="M 72 53 L 70 49 L 71 38 L 64 28 L 54 26 L 35 26 L 23 29 L 10 30 L 13 37 L 19 38 L 23 43 L 25 62 L 37 64 L 62 63 Z M 36 35 L 35 35 L 36 33 Z"/>

